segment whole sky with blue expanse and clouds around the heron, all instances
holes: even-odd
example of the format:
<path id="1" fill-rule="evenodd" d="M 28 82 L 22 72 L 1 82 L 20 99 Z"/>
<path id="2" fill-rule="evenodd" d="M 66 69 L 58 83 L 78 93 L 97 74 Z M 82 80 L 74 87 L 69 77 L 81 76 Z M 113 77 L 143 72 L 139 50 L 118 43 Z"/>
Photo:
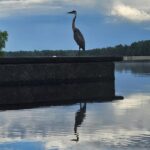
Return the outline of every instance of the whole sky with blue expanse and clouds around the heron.
<path id="1" fill-rule="evenodd" d="M 78 49 L 66 13 L 73 9 L 86 49 L 150 39 L 149 0 L 0 0 L 5 50 Z"/>

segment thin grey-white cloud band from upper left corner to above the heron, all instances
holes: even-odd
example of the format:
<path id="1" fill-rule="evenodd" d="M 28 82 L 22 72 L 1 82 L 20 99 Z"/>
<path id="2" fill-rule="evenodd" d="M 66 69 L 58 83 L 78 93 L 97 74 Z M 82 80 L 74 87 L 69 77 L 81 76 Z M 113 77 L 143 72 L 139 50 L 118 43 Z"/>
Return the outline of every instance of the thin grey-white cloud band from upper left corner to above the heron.
<path id="1" fill-rule="evenodd" d="M 14 14 L 43 14 L 68 7 L 93 7 L 96 0 L 0 0 L 0 17 Z M 67 7 L 66 7 L 67 6 Z"/>

